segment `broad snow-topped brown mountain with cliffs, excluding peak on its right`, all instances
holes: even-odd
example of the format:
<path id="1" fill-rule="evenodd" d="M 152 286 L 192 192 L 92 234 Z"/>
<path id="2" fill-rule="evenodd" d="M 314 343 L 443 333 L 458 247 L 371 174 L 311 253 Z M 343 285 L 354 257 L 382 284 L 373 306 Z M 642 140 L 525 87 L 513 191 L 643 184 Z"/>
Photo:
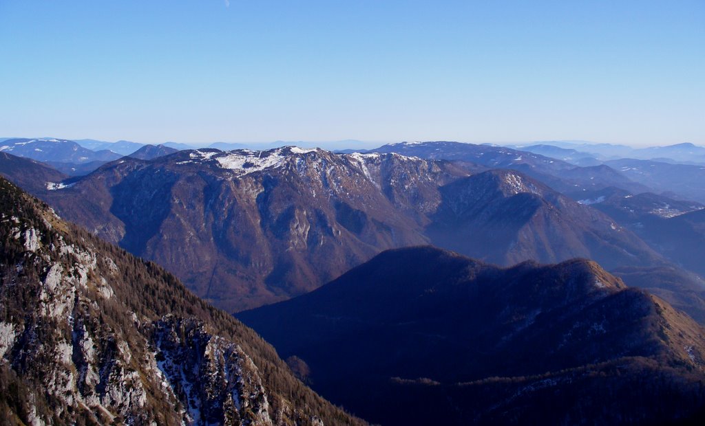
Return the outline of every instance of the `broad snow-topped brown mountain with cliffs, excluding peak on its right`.
<path id="1" fill-rule="evenodd" d="M 467 172 L 396 154 L 283 148 L 122 158 L 38 194 L 228 310 L 308 292 L 379 251 L 428 241 L 439 184 Z"/>

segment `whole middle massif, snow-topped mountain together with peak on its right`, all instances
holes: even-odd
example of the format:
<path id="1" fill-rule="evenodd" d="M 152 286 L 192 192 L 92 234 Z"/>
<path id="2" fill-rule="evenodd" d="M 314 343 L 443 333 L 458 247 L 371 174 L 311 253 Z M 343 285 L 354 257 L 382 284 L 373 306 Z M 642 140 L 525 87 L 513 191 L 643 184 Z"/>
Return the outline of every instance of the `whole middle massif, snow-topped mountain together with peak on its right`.
<path id="1" fill-rule="evenodd" d="M 121 158 L 36 194 L 228 311 L 309 292 L 380 251 L 429 241 L 504 265 L 665 262 L 522 173 L 469 174 L 467 163 L 398 154 L 202 149 Z"/>

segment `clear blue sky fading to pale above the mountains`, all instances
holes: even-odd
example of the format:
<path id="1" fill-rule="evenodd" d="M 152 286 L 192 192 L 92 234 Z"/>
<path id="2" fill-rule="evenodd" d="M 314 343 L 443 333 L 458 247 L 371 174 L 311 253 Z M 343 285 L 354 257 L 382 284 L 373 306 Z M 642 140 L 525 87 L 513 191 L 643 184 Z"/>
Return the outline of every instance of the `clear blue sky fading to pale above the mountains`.
<path id="1" fill-rule="evenodd" d="M 705 145 L 705 1 L 0 0 L 0 137 Z"/>

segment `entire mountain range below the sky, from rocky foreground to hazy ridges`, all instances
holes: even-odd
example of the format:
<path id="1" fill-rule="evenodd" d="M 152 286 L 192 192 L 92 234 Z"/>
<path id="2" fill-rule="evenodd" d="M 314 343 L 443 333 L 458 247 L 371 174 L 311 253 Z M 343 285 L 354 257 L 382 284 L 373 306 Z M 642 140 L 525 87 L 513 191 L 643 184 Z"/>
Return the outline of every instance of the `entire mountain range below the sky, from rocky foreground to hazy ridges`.
<path id="1" fill-rule="evenodd" d="M 48 203 L 0 177 L 13 424 L 362 424 L 306 385 L 384 425 L 705 415 L 699 166 L 165 144 L 62 173 L 13 150 L 0 174 Z"/>

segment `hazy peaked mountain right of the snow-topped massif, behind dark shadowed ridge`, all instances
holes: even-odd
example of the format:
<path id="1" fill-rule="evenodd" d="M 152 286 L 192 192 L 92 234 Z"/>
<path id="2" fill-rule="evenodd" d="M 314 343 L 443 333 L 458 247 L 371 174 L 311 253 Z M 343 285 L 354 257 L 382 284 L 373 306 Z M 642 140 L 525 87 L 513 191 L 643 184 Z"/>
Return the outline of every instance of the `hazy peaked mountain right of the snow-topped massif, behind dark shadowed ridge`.
<path id="1" fill-rule="evenodd" d="M 441 196 L 426 233 L 435 245 L 467 256 L 501 265 L 574 257 L 606 268 L 664 263 L 608 216 L 510 170 L 455 180 Z"/>

